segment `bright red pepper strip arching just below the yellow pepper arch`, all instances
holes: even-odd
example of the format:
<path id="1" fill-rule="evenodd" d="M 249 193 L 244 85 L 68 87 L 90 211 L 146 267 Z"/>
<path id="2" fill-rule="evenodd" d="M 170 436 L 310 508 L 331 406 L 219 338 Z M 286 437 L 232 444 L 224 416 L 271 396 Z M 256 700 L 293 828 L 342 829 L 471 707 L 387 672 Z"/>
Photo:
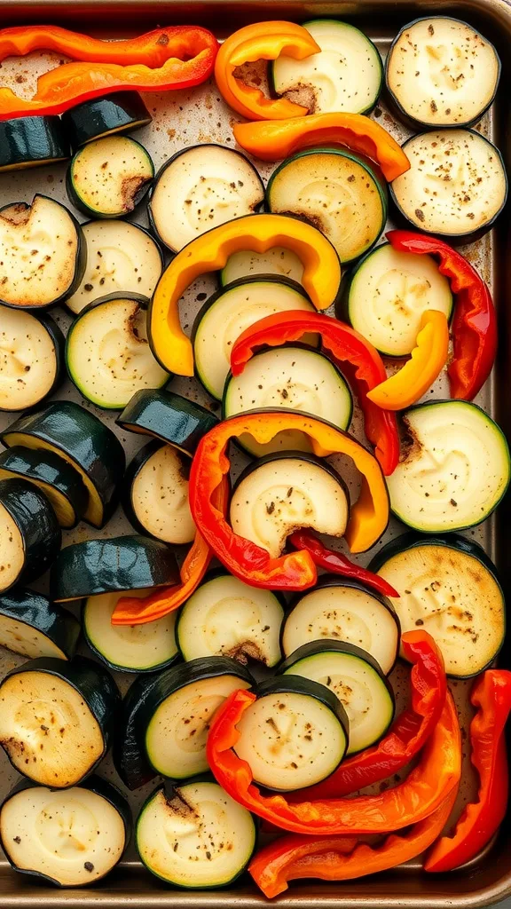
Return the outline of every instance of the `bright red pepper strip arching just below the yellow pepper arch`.
<path id="1" fill-rule="evenodd" d="M 354 382 L 359 404 L 364 414 L 364 428 L 376 458 L 386 476 L 396 470 L 399 461 L 399 436 L 396 417 L 369 400 L 367 393 L 385 382 L 386 369 L 376 347 L 338 319 L 326 318 L 316 313 L 288 310 L 267 315 L 250 325 L 239 336 L 231 352 L 231 371 L 241 375 L 252 358 L 255 348 L 261 345 L 286 344 L 297 341 L 308 332 L 321 335 L 323 346 Z"/>

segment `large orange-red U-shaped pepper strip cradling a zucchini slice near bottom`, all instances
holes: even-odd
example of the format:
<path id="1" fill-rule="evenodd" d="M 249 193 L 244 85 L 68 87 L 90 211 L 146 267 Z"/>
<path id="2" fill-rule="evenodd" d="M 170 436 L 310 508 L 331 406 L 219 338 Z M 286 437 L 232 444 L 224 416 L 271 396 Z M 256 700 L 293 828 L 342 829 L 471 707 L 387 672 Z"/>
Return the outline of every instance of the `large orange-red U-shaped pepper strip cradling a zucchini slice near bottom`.
<path id="1" fill-rule="evenodd" d="M 207 737 L 206 756 L 216 782 L 248 811 L 297 834 L 386 834 L 418 824 L 442 804 L 461 774 L 461 734 L 456 706 L 447 692 L 440 719 L 418 764 L 406 780 L 376 795 L 292 803 L 284 794 L 264 795 L 250 766 L 233 750 L 236 725 L 256 696 L 235 691 L 219 708 Z"/>

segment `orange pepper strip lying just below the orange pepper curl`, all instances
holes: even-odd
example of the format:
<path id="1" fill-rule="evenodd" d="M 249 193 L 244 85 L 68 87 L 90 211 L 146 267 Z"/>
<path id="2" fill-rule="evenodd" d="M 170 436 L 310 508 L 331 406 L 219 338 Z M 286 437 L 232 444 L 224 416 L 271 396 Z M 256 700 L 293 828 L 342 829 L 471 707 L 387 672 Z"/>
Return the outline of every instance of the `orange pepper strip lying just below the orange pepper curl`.
<path id="1" fill-rule="evenodd" d="M 389 183 L 410 169 L 396 139 L 361 114 L 312 114 L 291 120 L 238 123 L 233 131 L 237 144 L 262 161 L 280 161 L 302 148 L 334 143 L 372 158 Z"/>

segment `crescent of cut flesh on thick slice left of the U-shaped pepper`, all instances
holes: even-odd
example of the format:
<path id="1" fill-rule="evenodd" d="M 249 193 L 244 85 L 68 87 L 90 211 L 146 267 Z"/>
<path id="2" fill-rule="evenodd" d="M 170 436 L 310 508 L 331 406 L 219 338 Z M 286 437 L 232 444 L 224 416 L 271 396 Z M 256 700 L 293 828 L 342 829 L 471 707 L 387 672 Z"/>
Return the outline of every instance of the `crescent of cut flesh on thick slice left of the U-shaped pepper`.
<path id="1" fill-rule="evenodd" d="M 248 683 L 216 675 L 186 684 L 155 710 L 145 733 L 145 752 L 156 773 L 182 780 L 207 770 L 205 742 L 218 707 Z"/>

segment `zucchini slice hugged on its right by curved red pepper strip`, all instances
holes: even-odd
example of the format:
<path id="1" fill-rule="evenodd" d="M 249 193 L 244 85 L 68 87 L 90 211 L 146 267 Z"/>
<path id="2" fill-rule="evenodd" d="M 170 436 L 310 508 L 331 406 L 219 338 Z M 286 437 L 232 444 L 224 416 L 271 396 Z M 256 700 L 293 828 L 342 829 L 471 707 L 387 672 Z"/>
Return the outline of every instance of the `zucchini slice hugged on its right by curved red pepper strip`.
<path id="1" fill-rule="evenodd" d="M 406 356 L 416 346 L 421 317 L 436 309 L 450 318 L 453 295 L 431 255 L 377 246 L 356 265 L 347 286 L 348 319 L 376 350 Z"/>

